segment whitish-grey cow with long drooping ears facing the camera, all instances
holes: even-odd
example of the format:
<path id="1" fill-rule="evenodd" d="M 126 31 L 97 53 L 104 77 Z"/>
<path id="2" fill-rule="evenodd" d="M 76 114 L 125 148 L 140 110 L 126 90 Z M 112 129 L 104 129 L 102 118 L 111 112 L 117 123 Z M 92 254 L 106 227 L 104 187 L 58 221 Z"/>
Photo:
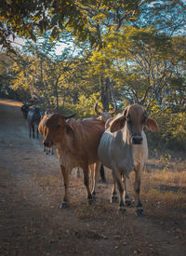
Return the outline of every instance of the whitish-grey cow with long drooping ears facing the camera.
<path id="1" fill-rule="evenodd" d="M 145 126 L 153 132 L 158 130 L 157 123 L 147 115 L 142 106 L 139 104 L 127 106 L 122 115 L 107 121 L 98 150 L 101 163 L 112 169 L 114 182 L 112 202 L 117 198 L 116 184 L 118 186 L 119 210 L 126 210 L 122 177 L 125 180 L 127 202 L 127 178 L 131 170 L 135 171 L 134 190 L 138 216 L 145 215 L 140 202 L 141 172 L 148 157 L 147 139 L 143 131 Z"/>

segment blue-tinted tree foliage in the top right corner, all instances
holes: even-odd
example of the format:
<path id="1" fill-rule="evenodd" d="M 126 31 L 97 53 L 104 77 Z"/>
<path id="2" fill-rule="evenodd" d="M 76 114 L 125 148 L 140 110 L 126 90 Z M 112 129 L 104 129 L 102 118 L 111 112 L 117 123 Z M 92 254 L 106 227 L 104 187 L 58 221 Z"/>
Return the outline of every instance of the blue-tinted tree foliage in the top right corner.
<path id="1" fill-rule="evenodd" d="M 140 17 L 133 21 L 138 28 L 153 27 L 168 36 L 184 34 L 186 7 L 184 0 L 148 1 L 140 7 Z"/>

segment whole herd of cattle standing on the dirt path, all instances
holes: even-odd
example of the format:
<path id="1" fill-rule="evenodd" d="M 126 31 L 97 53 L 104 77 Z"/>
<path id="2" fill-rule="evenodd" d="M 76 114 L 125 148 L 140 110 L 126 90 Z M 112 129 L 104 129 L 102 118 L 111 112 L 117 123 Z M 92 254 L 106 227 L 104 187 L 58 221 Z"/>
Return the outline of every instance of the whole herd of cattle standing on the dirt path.
<path id="1" fill-rule="evenodd" d="M 69 206 L 69 174 L 73 168 L 82 168 L 89 204 L 96 198 L 96 185 L 99 173 L 105 182 L 103 166 L 112 170 L 113 193 L 111 202 L 119 203 L 119 210 L 124 212 L 131 204 L 128 194 L 127 179 L 130 172 L 135 172 L 135 206 L 138 216 L 144 216 L 140 201 L 141 172 L 148 158 L 148 145 L 144 127 L 153 132 L 158 130 L 155 120 L 147 115 L 139 104 L 129 105 L 122 114 L 113 117 L 114 111 L 99 112 L 98 103 L 95 112 L 98 117 L 74 119 L 73 115 L 60 115 L 52 110 L 44 114 L 38 107 L 23 104 L 21 111 L 28 120 L 30 138 L 38 131 L 43 135 L 46 154 L 48 149 L 56 147 L 60 169 L 64 182 L 64 196 L 60 208 Z M 89 184 L 91 170 L 92 187 Z M 117 195 L 117 189 L 119 197 Z"/>

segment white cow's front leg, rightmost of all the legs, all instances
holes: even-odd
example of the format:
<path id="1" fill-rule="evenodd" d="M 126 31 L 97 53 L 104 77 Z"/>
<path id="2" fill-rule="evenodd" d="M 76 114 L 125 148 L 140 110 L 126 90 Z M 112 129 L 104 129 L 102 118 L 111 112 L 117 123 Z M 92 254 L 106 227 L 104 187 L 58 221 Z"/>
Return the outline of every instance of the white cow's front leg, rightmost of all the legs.
<path id="1" fill-rule="evenodd" d="M 141 168 L 135 168 L 135 182 L 134 182 L 134 190 L 135 190 L 135 206 L 137 208 L 138 216 L 145 216 L 144 209 L 142 208 L 142 204 L 140 202 L 140 179 L 141 179 Z"/>

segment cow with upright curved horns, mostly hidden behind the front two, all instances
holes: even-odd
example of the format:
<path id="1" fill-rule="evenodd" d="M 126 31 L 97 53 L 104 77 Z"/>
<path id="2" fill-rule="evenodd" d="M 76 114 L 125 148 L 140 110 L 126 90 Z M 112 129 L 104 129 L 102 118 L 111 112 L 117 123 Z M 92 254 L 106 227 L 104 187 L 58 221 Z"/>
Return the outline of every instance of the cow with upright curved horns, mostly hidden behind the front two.
<path id="1" fill-rule="evenodd" d="M 99 115 L 98 119 L 100 119 L 104 123 L 106 123 L 108 119 L 112 118 L 113 114 L 115 114 L 115 112 L 117 111 L 117 105 L 114 103 L 113 106 L 114 106 L 113 112 L 103 112 L 103 111 L 100 112 L 98 110 L 98 102 L 96 102 L 96 104 L 94 106 L 94 110 L 95 110 L 96 114 Z M 100 179 L 101 179 L 101 182 L 106 183 L 104 168 L 103 168 L 102 164 L 100 166 Z M 96 177 L 96 180 L 98 180 L 98 177 Z"/>

